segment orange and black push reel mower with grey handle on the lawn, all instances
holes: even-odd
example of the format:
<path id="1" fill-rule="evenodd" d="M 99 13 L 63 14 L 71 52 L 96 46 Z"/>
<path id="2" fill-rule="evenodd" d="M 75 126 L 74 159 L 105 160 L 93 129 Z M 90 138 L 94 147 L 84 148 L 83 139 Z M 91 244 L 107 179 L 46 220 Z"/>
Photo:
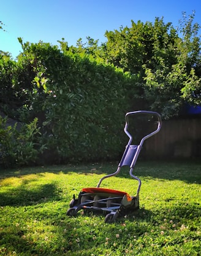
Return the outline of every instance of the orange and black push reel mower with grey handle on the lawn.
<path id="1" fill-rule="evenodd" d="M 133 145 L 132 136 L 129 133 L 129 118 L 130 116 L 145 116 L 150 120 L 151 118 L 156 119 L 156 126 L 154 131 L 152 130 L 149 134 L 143 136 L 138 145 Z M 105 222 L 112 223 L 115 222 L 116 218 L 120 215 L 126 215 L 129 212 L 135 211 L 139 208 L 139 193 L 141 187 L 141 180 L 133 174 L 134 166 L 137 161 L 140 150 L 142 149 L 143 142 L 145 139 L 150 138 L 156 134 L 161 129 L 161 115 L 157 112 L 151 111 L 134 111 L 128 112 L 126 114 L 126 125 L 124 127 L 124 132 L 129 137 L 129 141 L 124 150 L 123 157 L 119 162 L 118 168 L 115 173 L 108 174 L 102 177 L 97 184 L 97 187 L 83 188 L 79 193 L 78 198 L 73 196 L 70 201 L 70 208 L 67 210 L 66 214 L 69 216 L 74 216 L 78 211 L 92 211 L 92 212 L 104 212 L 106 214 Z M 102 181 L 108 177 L 116 176 L 120 171 L 122 166 L 129 166 L 129 174 L 132 178 L 138 181 L 137 193 L 135 196 L 131 196 L 126 192 L 119 190 L 113 190 L 110 188 L 100 188 Z"/>

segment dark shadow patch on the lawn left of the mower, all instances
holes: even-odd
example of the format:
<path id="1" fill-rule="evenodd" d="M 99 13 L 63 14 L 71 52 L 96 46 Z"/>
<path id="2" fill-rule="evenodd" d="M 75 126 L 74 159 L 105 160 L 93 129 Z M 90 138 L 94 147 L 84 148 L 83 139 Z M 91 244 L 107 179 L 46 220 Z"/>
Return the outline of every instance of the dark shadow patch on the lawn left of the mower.
<path id="1" fill-rule="evenodd" d="M 59 200 L 58 188 L 55 184 L 44 184 L 34 188 L 20 185 L 0 192 L 0 206 L 29 206 Z"/>

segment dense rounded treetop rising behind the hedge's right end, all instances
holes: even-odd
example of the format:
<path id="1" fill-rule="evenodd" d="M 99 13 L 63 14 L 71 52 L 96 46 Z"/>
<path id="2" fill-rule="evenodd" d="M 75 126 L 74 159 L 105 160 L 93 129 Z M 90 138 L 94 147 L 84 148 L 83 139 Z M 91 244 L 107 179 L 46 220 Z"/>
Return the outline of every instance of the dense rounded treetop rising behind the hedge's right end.
<path id="1" fill-rule="evenodd" d="M 163 18 L 156 18 L 154 24 L 131 22 L 131 28 L 126 26 L 119 31 L 106 31 L 108 41 L 104 50 L 108 61 L 121 66 L 124 71 L 140 74 L 141 78 L 144 75 L 143 65 L 151 69 L 157 68 L 157 56 L 164 55 L 165 58 L 166 55 L 170 59 L 169 64 L 175 61 L 172 44 L 177 35 L 171 23 L 164 24 Z"/>

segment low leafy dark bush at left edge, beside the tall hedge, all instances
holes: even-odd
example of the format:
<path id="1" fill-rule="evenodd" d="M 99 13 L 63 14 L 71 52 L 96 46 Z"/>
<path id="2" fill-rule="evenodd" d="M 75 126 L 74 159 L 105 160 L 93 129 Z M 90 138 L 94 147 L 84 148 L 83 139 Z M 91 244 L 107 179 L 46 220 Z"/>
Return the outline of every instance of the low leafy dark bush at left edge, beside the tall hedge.
<path id="1" fill-rule="evenodd" d="M 13 165 L 30 165 L 37 160 L 39 153 L 45 148 L 38 144 L 39 128 L 37 118 L 31 123 L 14 126 L 6 125 L 7 118 L 0 117 L 0 163 L 4 167 Z"/>

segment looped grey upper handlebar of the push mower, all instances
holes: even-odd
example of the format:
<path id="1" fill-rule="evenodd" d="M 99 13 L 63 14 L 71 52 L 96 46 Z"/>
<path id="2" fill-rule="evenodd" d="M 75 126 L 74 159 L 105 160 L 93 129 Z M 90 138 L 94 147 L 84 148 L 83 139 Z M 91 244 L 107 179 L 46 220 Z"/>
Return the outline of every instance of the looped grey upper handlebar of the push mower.
<path id="1" fill-rule="evenodd" d="M 133 112 L 127 112 L 126 114 L 126 125 L 124 127 L 124 132 L 127 134 L 127 136 L 129 137 L 129 142 L 128 142 L 128 145 L 131 144 L 132 142 L 132 136 L 131 134 L 127 131 L 127 127 L 129 125 L 129 120 L 128 120 L 128 116 L 129 115 L 154 115 L 157 117 L 157 121 L 158 121 L 158 125 L 157 125 L 157 129 L 155 131 L 153 131 L 152 133 L 146 135 L 145 137 L 142 138 L 142 140 L 140 141 L 140 146 L 143 144 L 143 142 L 145 141 L 145 139 L 148 139 L 150 138 L 151 136 L 153 136 L 154 134 L 158 133 L 159 130 L 161 129 L 161 123 L 162 123 L 162 120 L 161 120 L 161 115 L 158 114 L 157 112 L 154 112 L 154 111 L 133 111 Z"/>

